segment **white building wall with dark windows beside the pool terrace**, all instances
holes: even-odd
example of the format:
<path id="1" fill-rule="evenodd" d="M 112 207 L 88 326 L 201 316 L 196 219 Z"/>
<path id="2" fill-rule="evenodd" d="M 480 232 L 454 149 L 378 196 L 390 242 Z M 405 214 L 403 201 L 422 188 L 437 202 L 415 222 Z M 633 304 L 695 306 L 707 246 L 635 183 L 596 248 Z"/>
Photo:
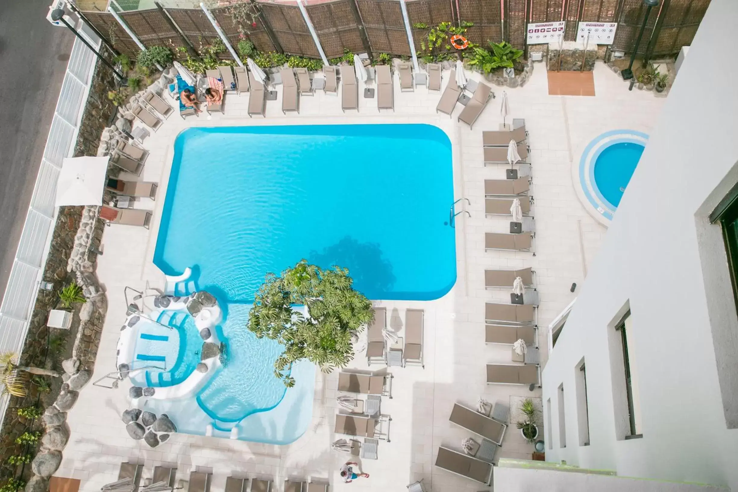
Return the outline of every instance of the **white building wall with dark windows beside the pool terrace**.
<path id="1" fill-rule="evenodd" d="M 723 355 L 738 359 L 738 324 L 720 227 L 706 221 L 738 181 L 738 64 L 726 34 L 737 24 L 738 1 L 711 1 L 548 359 L 542 375 L 545 426 L 554 426 L 545 436 L 548 461 L 738 491 L 738 429 L 731 410 L 724 412 L 718 380 L 718 364 L 729 372 L 731 363 L 716 359 L 714 348 L 716 342 Z M 617 354 L 611 361 L 608 343 L 628 304 L 643 425 L 643 437 L 632 440 L 623 439 L 627 420 L 616 422 L 613 410 L 621 402 L 613 397 Z M 579 446 L 578 436 L 575 370 L 582 358 L 589 446 Z M 737 373 L 726 381 L 724 389 L 735 384 L 738 391 Z"/>

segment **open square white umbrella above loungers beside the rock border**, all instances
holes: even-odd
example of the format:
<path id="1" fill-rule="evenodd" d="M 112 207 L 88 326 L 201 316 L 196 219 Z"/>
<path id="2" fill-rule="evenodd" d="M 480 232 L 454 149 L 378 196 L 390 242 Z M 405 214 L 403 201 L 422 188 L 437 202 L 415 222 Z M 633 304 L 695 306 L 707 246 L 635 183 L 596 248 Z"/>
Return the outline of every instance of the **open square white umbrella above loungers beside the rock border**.
<path id="1" fill-rule="evenodd" d="M 56 187 L 56 205 L 102 205 L 109 157 L 67 157 Z"/>

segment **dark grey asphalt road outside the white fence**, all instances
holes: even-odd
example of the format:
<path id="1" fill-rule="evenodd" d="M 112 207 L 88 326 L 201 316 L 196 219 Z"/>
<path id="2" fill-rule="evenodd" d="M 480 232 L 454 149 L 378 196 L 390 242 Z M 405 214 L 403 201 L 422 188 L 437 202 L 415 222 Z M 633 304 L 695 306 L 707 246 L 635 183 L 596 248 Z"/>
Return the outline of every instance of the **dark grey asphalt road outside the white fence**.
<path id="1" fill-rule="evenodd" d="M 0 10 L 0 297 L 75 38 L 46 21 L 50 4 L 6 0 Z"/>

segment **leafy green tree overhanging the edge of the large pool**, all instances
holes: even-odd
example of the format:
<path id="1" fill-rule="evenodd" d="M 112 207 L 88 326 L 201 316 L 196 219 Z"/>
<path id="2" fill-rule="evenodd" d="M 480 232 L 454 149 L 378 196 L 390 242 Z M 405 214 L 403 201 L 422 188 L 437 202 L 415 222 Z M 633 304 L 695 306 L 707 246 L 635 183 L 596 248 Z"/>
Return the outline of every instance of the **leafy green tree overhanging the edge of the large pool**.
<path id="1" fill-rule="evenodd" d="M 294 386 L 292 364 L 306 358 L 325 373 L 354 358 L 351 339 L 371 322 L 371 302 L 351 287 L 348 268 L 323 270 L 300 260 L 280 277 L 267 274 L 249 313 L 249 328 L 285 346 L 275 361 L 275 376 Z M 292 310 L 306 305 L 308 316 Z"/>

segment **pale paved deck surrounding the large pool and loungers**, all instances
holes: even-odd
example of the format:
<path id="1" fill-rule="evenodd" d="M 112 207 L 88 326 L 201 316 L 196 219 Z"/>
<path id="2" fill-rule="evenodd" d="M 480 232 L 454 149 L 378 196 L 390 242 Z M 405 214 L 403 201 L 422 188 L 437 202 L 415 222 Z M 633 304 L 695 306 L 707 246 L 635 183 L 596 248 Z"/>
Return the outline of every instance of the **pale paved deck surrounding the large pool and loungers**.
<path id="1" fill-rule="evenodd" d="M 442 86 L 446 86 L 444 72 Z M 469 77 L 480 79 L 477 74 Z M 120 462 L 145 464 L 144 477 L 151 477 L 154 465 L 176 465 L 177 479 L 187 479 L 196 468 L 213 472 L 211 490 L 222 491 L 229 475 L 267 477 L 275 480 L 275 491 L 283 490 L 286 477 L 330 482 L 334 491 L 402 491 L 405 485 L 424 479 L 435 491 L 485 489 L 472 480 L 451 474 L 434 466 L 438 446 L 461 449 L 461 440 L 471 434 L 449 423 L 453 403 L 475 406 L 477 398 L 492 403 L 510 402 L 511 397 L 540 397 L 540 390 L 528 387 L 486 384 L 485 364 L 509 363 L 510 349 L 484 344 L 484 303 L 503 299 L 507 291 L 492 292 L 484 288 L 486 268 L 525 268 L 536 271 L 540 293 L 538 309 L 539 347 L 542 365 L 547 360 L 547 325 L 576 296 L 570 285 L 581 285 L 587 263 L 599 249 L 606 232 L 592 218 L 577 198 L 572 182 L 572 162 L 579 162 L 582 150 L 590 140 L 605 131 L 629 128 L 649 133 L 660 111 L 663 99 L 651 92 L 627 90 L 627 84 L 602 63 L 595 70 L 596 97 L 549 96 L 545 66 L 537 63 L 528 84 L 519 89 L 506 89 L 511 118 L 525 118 L 530 133 L 529 145 L 533 164 L 532 195 L 535 202 L 536 256 L 520 252 L 485 252 L 484 232 L 506 232 L 508 218 L 486 218 L 484 215 L 484 179 L 504 179 L 503 166 L 483 165 L 482 131 L 497 130 L 500 98 L 503 88 L 494 87 L 492 100 L 470 129 L 454 117 L 436 114 L 440 93 L 419 88 L 400 92 L 395 76 L 395 111 L 379 113 L 376 99 L 360 98 L 360 112 L 341 111 L 340 97 L 319 91 L 314 97 L 302 97 L 300 114 L 283 115 L 281 97 L 266 105 L 266 118 L 249 118 L 246 114 L 248 95 L 227 94 L 225 114 L 206 119 L 190 117 L 182 120 L 173 114 L 156 134 L 145 139 L 151 151 L 141 179 L 160 183 L 156 202 L 137 203 L 137 208 L 154 210 L 151 229 L 114 225 L 106 228 L 104 254 L 98 260 L 97 274 L 108 294 L 108 316 L 94 368 L 100 378 L 114 370 L 114 355 L 120 325 L 125 317 L 123 288 L 142 289 L 146 285 L 161 288 L 163 274 L 152 263 L 159 218 L 170 163 L 173 141 L 184 128 L 215 125 L 283 125 L 283 124 L 352 124 L 352 123 L 428 123 L 446 131 L 453 145 L 455 198 L 469 198 L 466 205 L 471 217 L 458 216 L 457 263 L 458 280 L 441 299 L 432 302 L 384 302 L 390 325 L 404 319 L 406 308 L 425 311 L 425 368 L 392 367 L 393 399 L 383 398 L 382 412 L 392 417 L 391 442 L 380 441 L 379 460 L 359 460 L 369 479 L 358 479 L 345 485 L 338 470 L 350 457 L 331 450 L 334 415 L 337 412 L 337 373 L 317 375 L 314 412 L 311 426 L 289 446 L 271 446 L 215 437 L 173 434 L 167 443 L 149 448 L 143 441 L 128 437 L 120 415 L 128 408 L 128 382 L 119 389 L 103 389 L 91 384 L 80 393 L 79 401 L 69 413 L 71 438 L 64 450 L 58 477 L 81 479 L 80 490 L 97 491 L 117 479 Z M 281 90 L 281 86 L 277 86 Z M 360 94 L 361 94 L 361 89 Z M 216 149 L 214 149 L 216 150 Z M 278 150 L 275 150 L 278 151 Z M 366 149 L 366 159 L 382 159 L 374 149 Z M 388 156 L 387 156 L 388 157 Z M 208 163 L 202 162 L 207 173 Z M 392 176 L 387 176 L 387 180 Z M 579 186 L 577 184 L 577 186 Z M 463 204 L 463 203 L 462 203 Z M 450 204 L 449 204 L 450 205 Z M 407 238 L 412 240 L 411 238 Z M 421 247 L 421 246 L 418 246 Z M 401 324 L 401 323 L 400 323 Z M 402 333 L 399 333 L 402 336 Z M 351 367 L 367 369 L 365 358 L 357 356 Z M 378 364 L 376 370 L 387 370 Z M 525 443 L 514 421 L 508 427 L 497 457 L 530 459 L 533 446 Z M 545 433 L 543 434 L 545 435 Z"/>

